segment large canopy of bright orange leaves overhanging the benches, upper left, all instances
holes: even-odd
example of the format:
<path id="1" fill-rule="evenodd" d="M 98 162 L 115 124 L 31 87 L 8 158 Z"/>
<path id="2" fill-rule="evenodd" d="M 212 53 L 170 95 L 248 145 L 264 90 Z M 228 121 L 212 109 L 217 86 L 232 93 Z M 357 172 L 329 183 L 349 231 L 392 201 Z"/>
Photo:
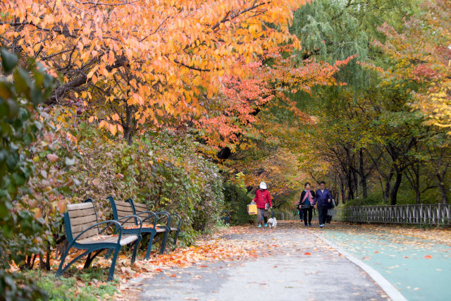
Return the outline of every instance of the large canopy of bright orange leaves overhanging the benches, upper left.
<path id="1" fill-rule="evenodd" d="M 288 25 L 304 2 L 6 0 L 0 43 L 63 73 L 47 104 L 101 92 L 116 113 L 99 124 L 114 134 L 130 126 L 130 116 L 144 125 L 202 113 L 208 104 L 199 98 L 241 75 L 239 59 L 251 63 L 289 40 L 299 48 Z"/>

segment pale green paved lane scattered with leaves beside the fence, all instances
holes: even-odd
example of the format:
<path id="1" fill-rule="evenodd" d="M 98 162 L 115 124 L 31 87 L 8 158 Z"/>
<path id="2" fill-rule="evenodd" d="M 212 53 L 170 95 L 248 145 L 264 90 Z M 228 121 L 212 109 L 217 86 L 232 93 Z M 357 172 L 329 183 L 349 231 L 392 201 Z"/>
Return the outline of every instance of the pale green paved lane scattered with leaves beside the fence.
<path id="1" fill-rule="evenodd" d="M 451 300 L 450 245 L 359 226 L 340 225 L 316 233 L 378 271 L 407 300 Z"/>

